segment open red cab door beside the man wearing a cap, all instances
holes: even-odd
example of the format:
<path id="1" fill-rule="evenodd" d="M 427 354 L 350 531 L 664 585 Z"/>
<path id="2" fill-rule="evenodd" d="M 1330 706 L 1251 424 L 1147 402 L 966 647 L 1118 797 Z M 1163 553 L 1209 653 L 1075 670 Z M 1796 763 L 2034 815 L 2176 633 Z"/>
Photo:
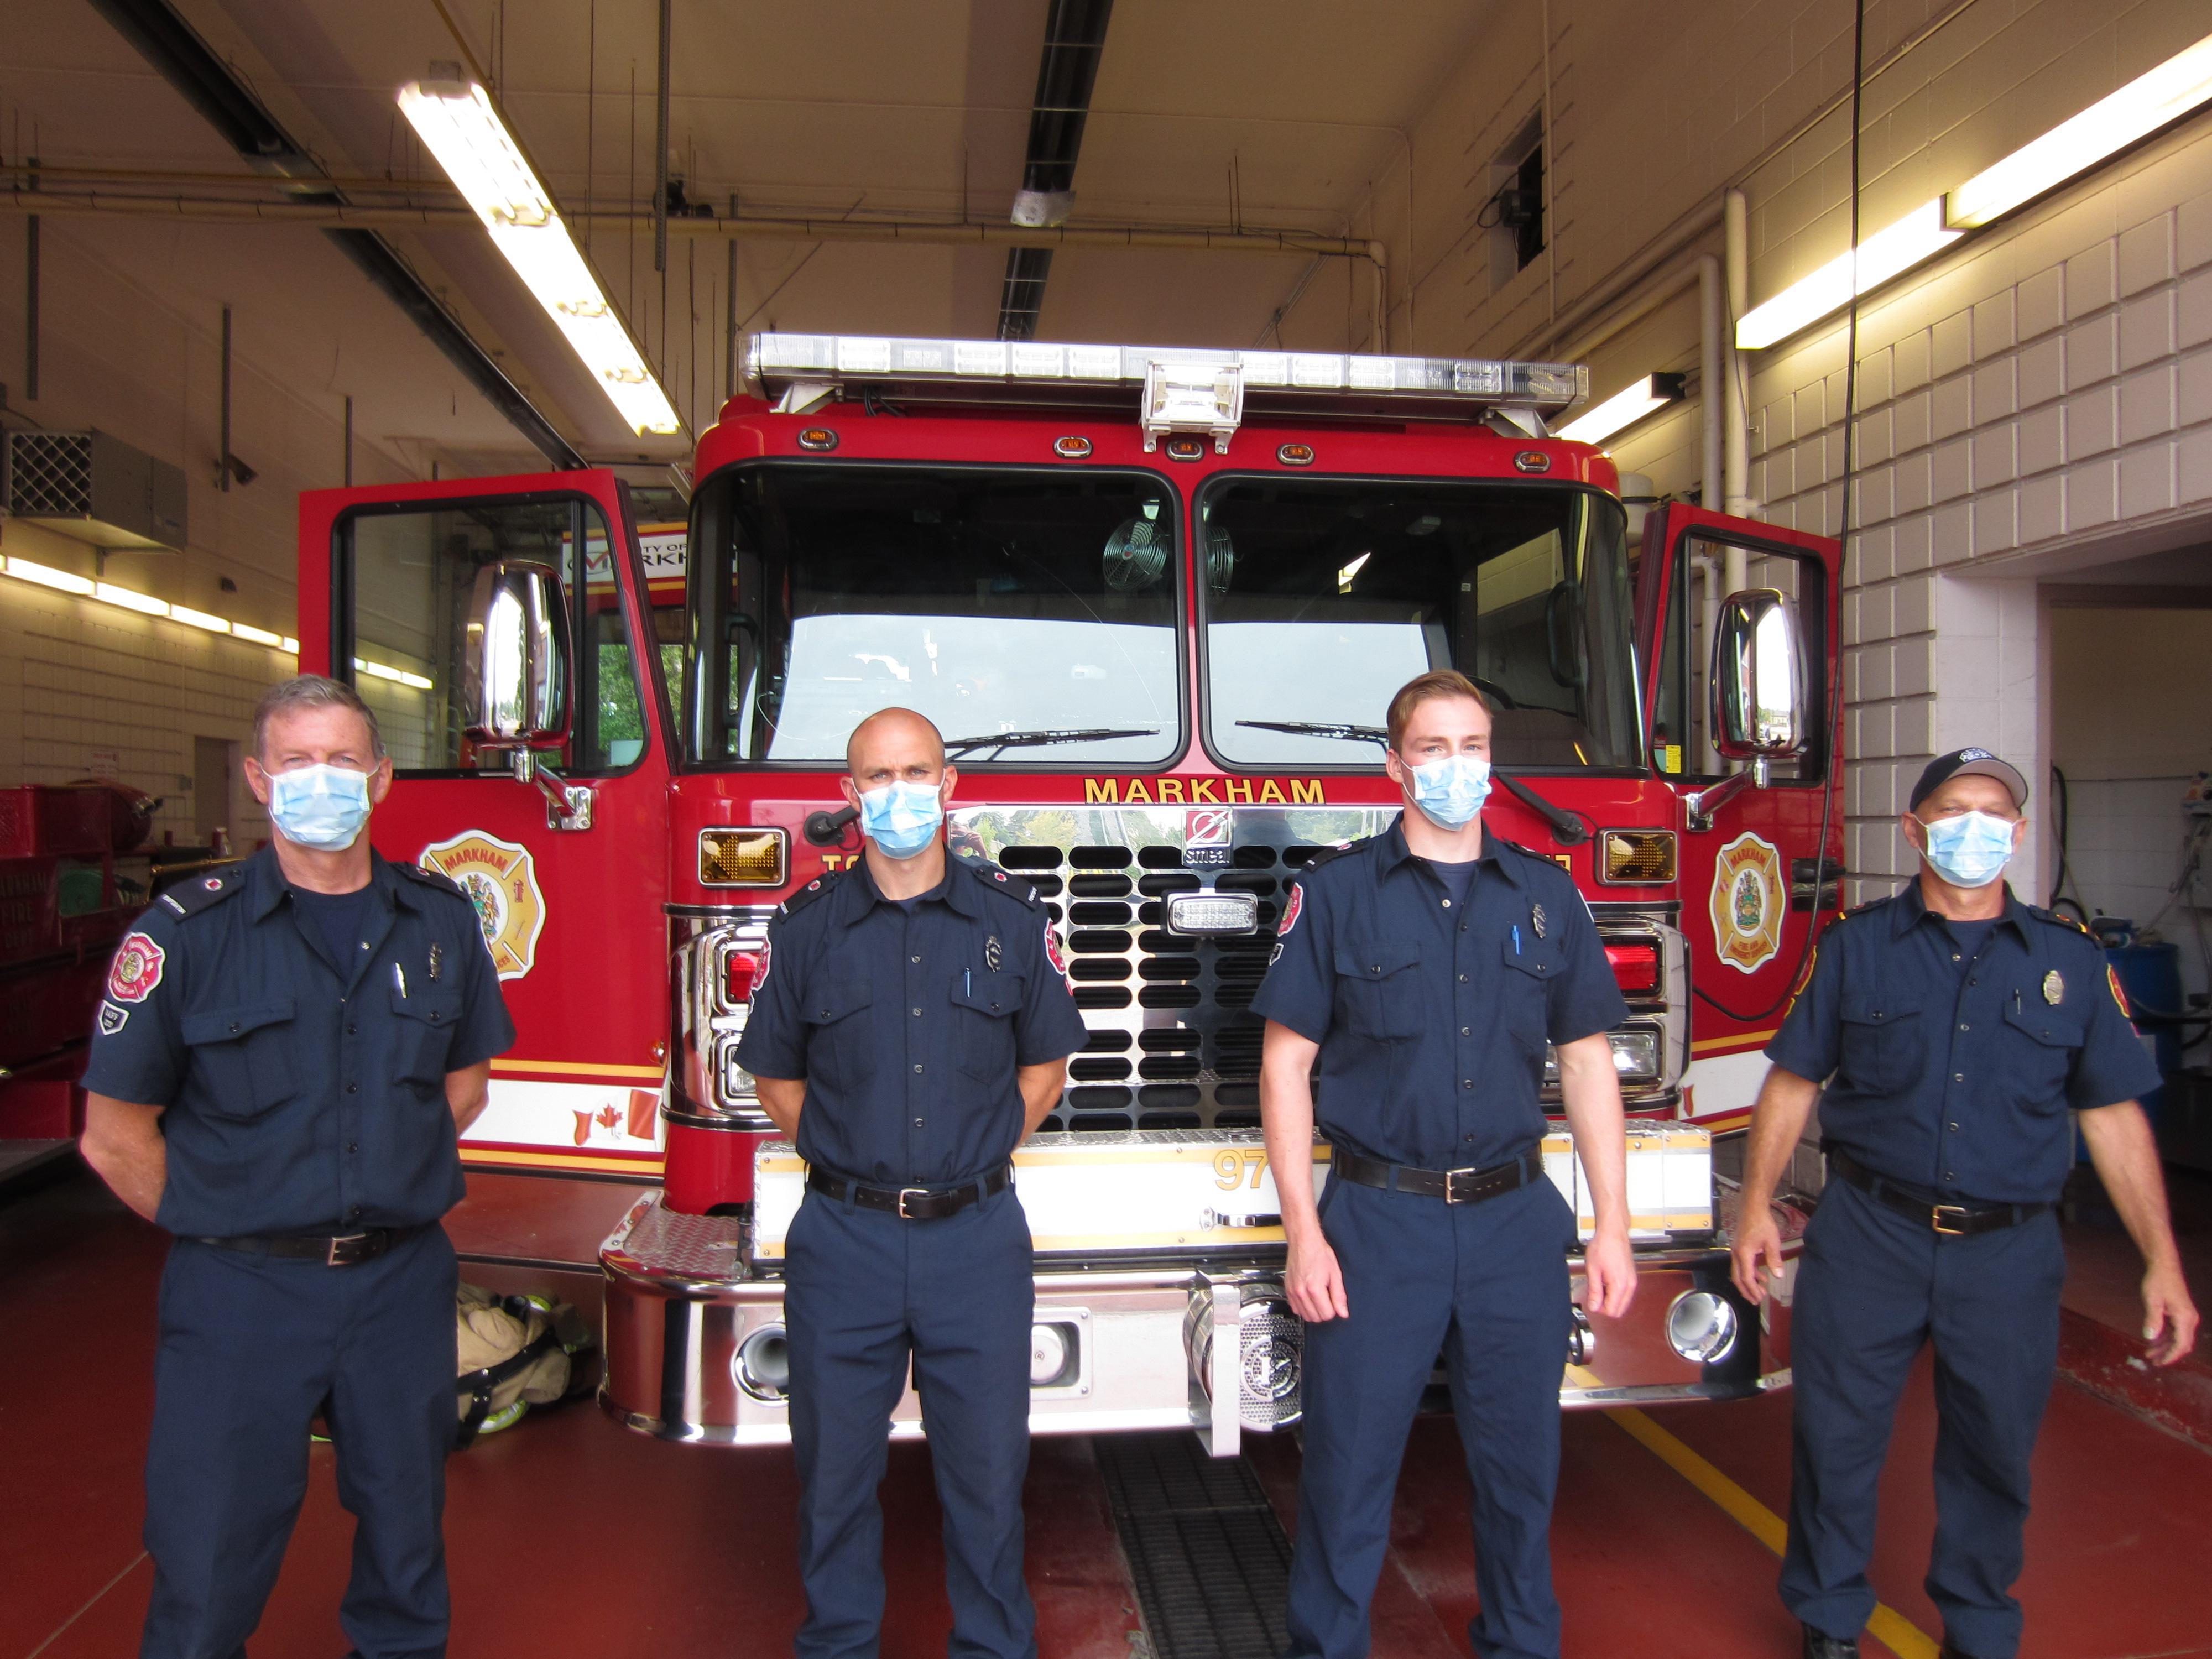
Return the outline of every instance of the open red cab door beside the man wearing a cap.
<path id="1" fill-rule="evenodd" d="M 1708 1128 L 1741 1126 L 1750 1113 L 1767 1068 L 1761 1048 L 1838 905 L 1840 564 L 1829 538 L 1697 507 L 1655 509 L 1644 526 L 1644 712 L 1652 768 L 1681 814 L 1677 891 L 1692 987 L 1683 1115 Z M 1767 763 L 1765 787 L 1730 783 L 1745 763 L 1723 761 L 1712 734 L 1714 619 L 1743 588 L 1783 593 L 1803 641 L 1805 745 Z"/>

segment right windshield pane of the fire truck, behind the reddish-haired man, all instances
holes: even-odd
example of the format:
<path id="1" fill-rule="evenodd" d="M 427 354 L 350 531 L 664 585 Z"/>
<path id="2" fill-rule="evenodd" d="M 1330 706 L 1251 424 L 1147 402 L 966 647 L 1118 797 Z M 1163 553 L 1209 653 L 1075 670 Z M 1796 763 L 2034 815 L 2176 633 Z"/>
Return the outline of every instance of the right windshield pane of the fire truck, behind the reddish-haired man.
<path id="1" fill-rule="evenodd" d="M 1458 668 L 1491 699 L 1498 765 L 1637 765 L 1619 502 L 1502 482 L 1223 478 L 1199 524 L 1208 737 L 1223 761 L 1374 765 L 1391 692 Z"/>

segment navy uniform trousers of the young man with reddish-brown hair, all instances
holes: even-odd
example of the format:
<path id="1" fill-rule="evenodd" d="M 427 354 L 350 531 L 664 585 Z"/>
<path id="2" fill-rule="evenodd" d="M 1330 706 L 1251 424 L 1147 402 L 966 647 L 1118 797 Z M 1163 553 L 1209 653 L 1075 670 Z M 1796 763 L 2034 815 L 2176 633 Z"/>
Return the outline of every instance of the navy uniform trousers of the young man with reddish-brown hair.
<path id="1" fill-rule="evenodd" d="M 1290 1657 L 1367 1652 L 1405 1440 L 1442 1354 L 1475 1486 L 1482 1610 L 1469 1637 L 1484 1659 L 1557 1659 L 1551 1500 L 1573 1212 L 1551 1181 L 1453 1206 L 1329 1181 L 1321 1228 L 1352 1312 L 1305 1327 Z"/>

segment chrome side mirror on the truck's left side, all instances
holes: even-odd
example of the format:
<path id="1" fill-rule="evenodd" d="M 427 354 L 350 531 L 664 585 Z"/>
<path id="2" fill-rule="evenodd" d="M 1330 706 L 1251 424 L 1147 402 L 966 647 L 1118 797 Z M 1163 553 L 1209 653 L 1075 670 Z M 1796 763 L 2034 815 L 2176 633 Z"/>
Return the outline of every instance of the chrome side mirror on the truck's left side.
<path id="1" fill-rule="evenodd" d="M 476 573 L 460 684 L 476 748 L 568 741 L 568 604 L 551 564 L 500 560 Z"/>

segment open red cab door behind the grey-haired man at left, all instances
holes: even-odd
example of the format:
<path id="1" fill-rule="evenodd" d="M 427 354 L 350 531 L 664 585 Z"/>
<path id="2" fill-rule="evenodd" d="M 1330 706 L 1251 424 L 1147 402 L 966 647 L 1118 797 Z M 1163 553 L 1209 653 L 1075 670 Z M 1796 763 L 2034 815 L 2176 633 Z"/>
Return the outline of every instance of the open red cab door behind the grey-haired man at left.
<path id="1" fill-rule="evenodd" d="M 564 593 L 568 737 L 540 759 L 580 812 L 467 737 L 476 575 L 513 560 L 551 566 Z M 471 1166 L 659 1168 L 672 717 L 657 635 L 679 635 L 653 597 L 608 471 L 301 495 L 301 668 L 376 710 L 398 776 L 374 845 L 476 902 L 520 1033 L 462 1144 Z"/>

